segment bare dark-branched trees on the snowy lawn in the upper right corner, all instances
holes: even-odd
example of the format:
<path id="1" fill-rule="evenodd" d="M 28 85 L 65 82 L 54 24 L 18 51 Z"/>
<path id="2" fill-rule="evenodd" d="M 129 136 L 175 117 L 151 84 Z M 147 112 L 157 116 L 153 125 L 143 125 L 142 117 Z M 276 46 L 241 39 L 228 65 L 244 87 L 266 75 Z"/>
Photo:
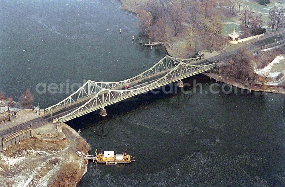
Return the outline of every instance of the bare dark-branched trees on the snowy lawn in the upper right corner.
<path id="1" fill-rule="evenodd" d="M 269 26 L 271 31 L 276 28 L 276 31 L 280 27 L 284 27 L 285 24 L 285 7 L 282 5 L 274 6 L 272 10 L 269 11 Z"/>

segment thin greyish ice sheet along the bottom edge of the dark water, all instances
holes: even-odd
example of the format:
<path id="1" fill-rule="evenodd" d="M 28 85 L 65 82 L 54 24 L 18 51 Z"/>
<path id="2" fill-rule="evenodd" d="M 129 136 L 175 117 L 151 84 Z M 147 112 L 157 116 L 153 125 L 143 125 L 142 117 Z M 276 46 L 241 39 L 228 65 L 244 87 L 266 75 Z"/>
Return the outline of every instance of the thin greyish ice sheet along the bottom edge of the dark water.
<path id="1" fill-rule="evenodd" d="M 283 176 L 275 178 L 284 180 Z M 138 174 L 135 180 L 99 172 L 92 181 L 95 186 L 266 186 L 265 180 L 250 176 L 229 155 L 210 152 L 193 153 L 160 172 Z"/>

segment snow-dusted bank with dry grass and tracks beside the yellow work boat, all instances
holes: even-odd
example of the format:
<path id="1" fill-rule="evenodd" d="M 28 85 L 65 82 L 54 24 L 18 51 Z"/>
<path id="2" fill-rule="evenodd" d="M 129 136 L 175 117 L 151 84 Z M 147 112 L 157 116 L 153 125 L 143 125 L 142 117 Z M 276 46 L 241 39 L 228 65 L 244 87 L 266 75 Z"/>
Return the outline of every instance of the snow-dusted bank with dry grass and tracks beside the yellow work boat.
<path id="1" fill-rule="evenodd" d="M 71 127 L 62 124 L 65 139 L 55 142 L 28 139 L 19 145 L 0 153 L 1 182 L 9 182 L 10 186 L 44 187 L 59 186 L 55 183 L 64 167 L 68 164 L 78 166 L 77 178 L 68 182 L 61 181 L 63 186 L 76 186 L 86 173 L 87 164 L 76 151 L 79 142 L 87 145 L 86 141 Z M 39 155 L 36 151 L 40 151 Z"/>

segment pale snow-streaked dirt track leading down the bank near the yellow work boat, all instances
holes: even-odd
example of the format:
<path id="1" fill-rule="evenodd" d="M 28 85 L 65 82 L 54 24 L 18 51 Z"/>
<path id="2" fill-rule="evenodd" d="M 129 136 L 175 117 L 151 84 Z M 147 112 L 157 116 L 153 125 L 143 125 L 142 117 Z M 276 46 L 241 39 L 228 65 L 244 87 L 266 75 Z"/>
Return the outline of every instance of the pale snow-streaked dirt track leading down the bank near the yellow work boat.
<path id="1" fill-rule="evenodd" d="M 53 154 L 37 155 L 35 152 L 29 154 L 22 160 L 19 160 L 15 164 L 0 169 L 0 178 L 12 178 L 15 179 L 14 186 L 37 186 L 45 187 L 48 183 L 56 178 L 57 173 L 62 166 L 68 162 L 78 162 L 83 165 L 83 159 L 79 158 L 76 153 L 76 138 L 79 136 L 76 131 L 71 129 L 68 125 L 63 124 L 63 132 L 67 138 L 68 146 L 62 150 Z M 53 168 L 47 170 L 43 176 L 38 176 L 44 165 L 52 159 L 58 158 L 60 161 L 54 165 Z M 85 167 L 83 167 L 85 170 Z M 33 182 L 31 182 L 33 181 Z"/>

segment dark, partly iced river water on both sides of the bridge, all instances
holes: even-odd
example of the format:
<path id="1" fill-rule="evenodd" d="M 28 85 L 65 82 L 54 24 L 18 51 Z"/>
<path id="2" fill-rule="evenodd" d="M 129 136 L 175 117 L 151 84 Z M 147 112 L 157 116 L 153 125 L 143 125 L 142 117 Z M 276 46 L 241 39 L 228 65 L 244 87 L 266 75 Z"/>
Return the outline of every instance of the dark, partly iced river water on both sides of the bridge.
<path id="1" fill-rule="evenodd" d="M 148 69 L 166 51 L 141 46 L 135 16 L 119 7 L 100 0 L 1 1 L 0 90 L 17 100 L 29 88 L 44 108 L 68 94 L 38 94 L 38 83 L 119 81 Z M 82 129 L 90 154 L 127 150 L 137 159 L 89 163 L 78 186 L 285 186 L 284 95 L 224 94 L 222 84 L 210 94 L 209 78 L 184 83 L 194 80 L 202 92 L 190 86 L 188 93 L 142 94 L 106 107 L 105 118 L 95 111 L 69 121 Z"/>

